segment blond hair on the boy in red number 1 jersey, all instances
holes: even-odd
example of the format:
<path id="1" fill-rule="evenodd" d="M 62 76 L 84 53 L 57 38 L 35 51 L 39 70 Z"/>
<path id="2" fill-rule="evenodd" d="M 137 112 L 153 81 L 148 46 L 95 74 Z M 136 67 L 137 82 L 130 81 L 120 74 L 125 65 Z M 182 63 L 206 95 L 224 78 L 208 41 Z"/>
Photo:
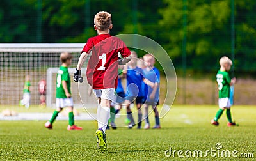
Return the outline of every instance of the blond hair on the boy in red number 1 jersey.
<path id="1" fill-rule="evenodd" d="M 100 11 L 94 17 L 94 24 L 99 31 L 106 31 L 111 26 L 111 14 L 106 11 Z"/>

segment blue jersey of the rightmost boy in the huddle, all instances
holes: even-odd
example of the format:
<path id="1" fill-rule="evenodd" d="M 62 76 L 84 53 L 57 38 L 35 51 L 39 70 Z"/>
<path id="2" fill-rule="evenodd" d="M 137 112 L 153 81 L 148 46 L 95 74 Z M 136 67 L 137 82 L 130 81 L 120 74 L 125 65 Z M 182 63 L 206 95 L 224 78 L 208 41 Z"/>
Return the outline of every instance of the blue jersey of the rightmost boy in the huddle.
<path id="1" fill-rule="evenodd" d="M 147 70 L 147 68 L 145 68 L 143 70 L 145 78 L 148 79 L 148 81 L 153 82 L 153 83 L 158 83 L 160 82 L 160 72 L 159 70 L 157 70 L 156 67 L 152 68 L 151 70 Z M 148 86 L 147 84 L 143 84 L 143 91 L 145 91 L 145 100 L 146 103 L 150 103 L 150 104 L 157 104 L 158 100 L 159 100 L 159 88 L 157 88 L 156 91 L 156 95 L 154 97 L 154 99 L 150 100 L 149 96 L 153 91 L 153 88 L 151 88 L 150 86 Z"/>

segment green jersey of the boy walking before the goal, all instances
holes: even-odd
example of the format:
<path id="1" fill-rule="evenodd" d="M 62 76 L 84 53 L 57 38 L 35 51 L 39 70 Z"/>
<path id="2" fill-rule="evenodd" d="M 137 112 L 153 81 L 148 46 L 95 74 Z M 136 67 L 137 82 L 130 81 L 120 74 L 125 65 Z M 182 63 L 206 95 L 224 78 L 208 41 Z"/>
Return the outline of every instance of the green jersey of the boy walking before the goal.
<path id="1" fill-rule="evenodd" d="M 71 81 L 68 73 L 68 68 L 64 66 L 60 66 L 60 70 L 58 70 L 58 73 L 57 73 L 56 98 L 67 98 L 64 88 L 62 86 L 62 81 L 67 82 L 68 92 L 71 94 L 71 90 L 70 90 Z"/>

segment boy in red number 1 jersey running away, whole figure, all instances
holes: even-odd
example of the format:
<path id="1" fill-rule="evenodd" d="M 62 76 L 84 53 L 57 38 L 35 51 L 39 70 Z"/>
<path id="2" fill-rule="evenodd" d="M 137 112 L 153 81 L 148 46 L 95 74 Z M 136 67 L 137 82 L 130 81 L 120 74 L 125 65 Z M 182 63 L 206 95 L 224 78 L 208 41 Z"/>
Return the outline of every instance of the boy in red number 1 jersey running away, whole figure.
<path id="1" fill-rule="evenodd" d="M 100 11 L 95 15 L 94 29 L 98 35 L 87 40 L 79 57 L 76 73 L 74 73 L 74 81 L 83 82 L 81 68 L 88 55 L 90 55 L 86 76 L 88 84 L 92 86 L 95 96 L 98 98 L 98 130 L 96 130 L 96 137 L 98 147 L 102 151 L 107 148 L 105 132 L 111 101 L 115 98 L 118 64 L 125 65 L 131 60 L 131 52 L 125 43 L 109 34 L 112 27 L 111 14 Z M 118 52 L 124 57 L 123 59 L 118 59 Z"/>

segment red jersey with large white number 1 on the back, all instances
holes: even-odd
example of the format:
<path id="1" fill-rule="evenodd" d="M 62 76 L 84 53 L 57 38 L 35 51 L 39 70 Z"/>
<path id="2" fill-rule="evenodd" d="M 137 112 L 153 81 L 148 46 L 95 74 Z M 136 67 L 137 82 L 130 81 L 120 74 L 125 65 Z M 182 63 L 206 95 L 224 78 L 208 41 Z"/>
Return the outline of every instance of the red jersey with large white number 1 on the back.
<path id="1" fill-rule="evenodd" d="M 125 43 L 110 34 L 100 34 L 89 38 L 82 52 L 90 56 L 86 77 L 93 89 L 117 87 L 118 52 L 128 57 L 131 52 Z"/>

